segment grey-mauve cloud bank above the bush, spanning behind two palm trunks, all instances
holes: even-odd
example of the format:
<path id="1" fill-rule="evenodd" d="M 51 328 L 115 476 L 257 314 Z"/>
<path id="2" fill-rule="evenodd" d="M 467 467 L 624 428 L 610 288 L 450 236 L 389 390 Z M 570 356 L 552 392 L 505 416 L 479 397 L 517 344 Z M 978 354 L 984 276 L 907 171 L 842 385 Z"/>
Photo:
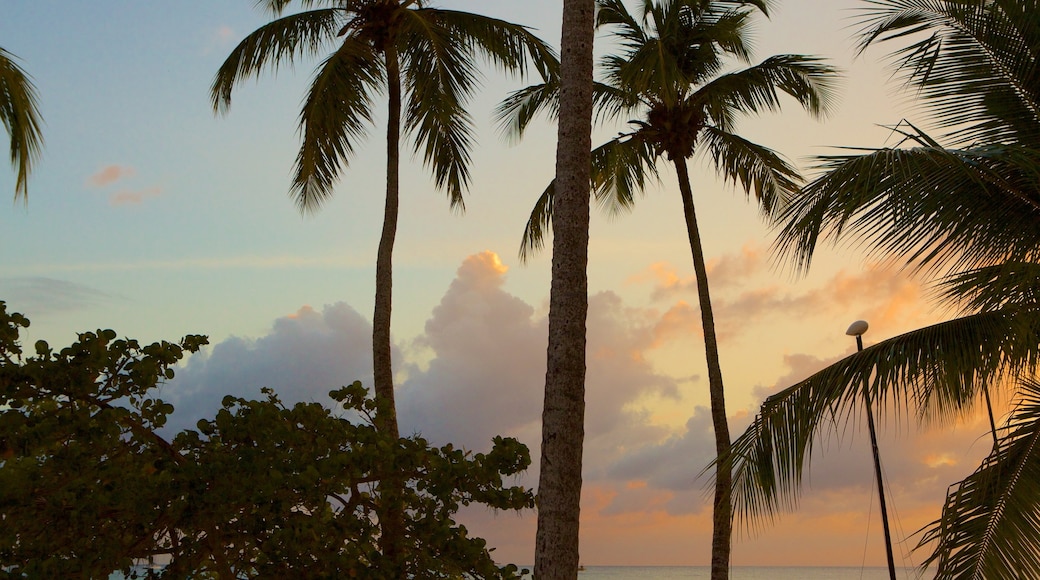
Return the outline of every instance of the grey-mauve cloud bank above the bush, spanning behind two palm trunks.
<path id="1" fill-rule="evenodd" d="M 506 271 L 493 253 L 467 258 L 424 333 L 395 353 L 402 432 L 471 448 L 504 434 L 537 450 L 547 320 L 503 289 Z M 670 316 L 626 307 L 612 292 L 590 298 L 590 466 L 620 448 L 667 437 L 667 429 L 651 424 L 641 400 L 678 397 L 680 379 L 657 372 L 645 357 L 668 340 L 660 327 Z M 360 378 L 369 385 L 370 336 L 370 324 L 347 305 L 321 312 L 303 308 L 276 320 L 264 337 L 231 338 L 192 358 L 166 394 L 184 424 L 211 415 L 225 394 L 257 396 L 265 386 L 287 401 L 324 401 L 329 390 L 344 383 Z"/>

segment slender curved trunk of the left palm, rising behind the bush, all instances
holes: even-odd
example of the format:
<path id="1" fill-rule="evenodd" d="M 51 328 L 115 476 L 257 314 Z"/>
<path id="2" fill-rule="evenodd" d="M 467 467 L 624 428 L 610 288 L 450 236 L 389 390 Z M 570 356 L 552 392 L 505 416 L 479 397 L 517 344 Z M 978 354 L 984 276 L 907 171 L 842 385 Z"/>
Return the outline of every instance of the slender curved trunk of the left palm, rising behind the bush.
<path id="1" fill-rule="evenodd" d="M 375 309 L 372 313 L 372 372 L 375 391 L 375 426 L 397 439 L 397 408 L 393 394 L 390 360 L 390 307 L 393 293 L 393 242 L 397 234 L 400 166 L 400 63 L 392 44 L 385 49 L 389 120 L 387 121 L 387 199 L 383 213 L 383 235 L 375 257 Z M 389 564 L 390 577 L 402 575 L 405 516 L 401 506 L 404 482 L 387 474 L 380 489 L 380 548 Z"/>

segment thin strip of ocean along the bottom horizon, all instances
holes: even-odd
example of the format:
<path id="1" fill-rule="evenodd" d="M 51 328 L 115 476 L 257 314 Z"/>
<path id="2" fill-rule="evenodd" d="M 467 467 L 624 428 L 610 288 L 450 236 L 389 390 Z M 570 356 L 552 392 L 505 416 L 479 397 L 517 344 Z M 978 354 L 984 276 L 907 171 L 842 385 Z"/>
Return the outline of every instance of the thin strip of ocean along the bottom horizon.
<path id="1" fill-rule="evenodd" d="M 528 566 L 529 568 L 529 566 Z M 672 580 L 710 578 L 708 566 L 601 566 L 589 565 L 578 580 Z M 926 578 L 917 569 L 895 570 L 900 579 Z M 733 566 L 731 580 L 888 580 L 887 568 Z"/>

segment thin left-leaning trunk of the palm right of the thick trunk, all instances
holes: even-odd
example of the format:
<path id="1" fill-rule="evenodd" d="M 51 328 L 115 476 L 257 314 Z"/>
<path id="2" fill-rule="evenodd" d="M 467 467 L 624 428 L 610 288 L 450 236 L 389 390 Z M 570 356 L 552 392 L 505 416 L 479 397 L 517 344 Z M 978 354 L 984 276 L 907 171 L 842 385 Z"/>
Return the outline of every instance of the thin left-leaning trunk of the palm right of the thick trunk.
<path id="1" fill-rule="evenodd" d="M 711 424 L 716 434 L 716 490 L 713 526 L 711 533 L 711 579 L 729 578 L 729 553 L 733 536 L 732 466 L 730 457 L 729 421 L 726 418 L 726 392 L 722 381 L 722 366 L 719 364 L 719 340 L 714 332 L 714 315 L 711 313 L 711 297 L 708 294 L 708 272 L 704 265 L 704 247 L 697 227 L 694 211 L 694 193 L 690 186 L 690 172 L 686 160 L 674 159 L 679 176 L 679 192 L 686 218 L 686 234 L 690 236 L 690 251 L 694 256 L 694 272 L 697 275 L 697 298 L 701 307 L 701 325 L 704 328 L 704 355 L 708 365 L 708 393 L 711 399 Z"/>

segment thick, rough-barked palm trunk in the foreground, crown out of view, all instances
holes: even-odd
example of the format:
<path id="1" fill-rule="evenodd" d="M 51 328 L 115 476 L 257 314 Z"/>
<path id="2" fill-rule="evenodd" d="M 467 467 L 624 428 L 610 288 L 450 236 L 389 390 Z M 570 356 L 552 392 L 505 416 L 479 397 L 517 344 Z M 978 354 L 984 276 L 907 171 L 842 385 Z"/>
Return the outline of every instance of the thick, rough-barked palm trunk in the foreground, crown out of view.
<path id="1" fill-rule="evenodd" d="M 549 347 L 538 481 L 538 580 L 574 580 L 578 575 L 594 8 L 593 0 L 564 0 Z"/>

